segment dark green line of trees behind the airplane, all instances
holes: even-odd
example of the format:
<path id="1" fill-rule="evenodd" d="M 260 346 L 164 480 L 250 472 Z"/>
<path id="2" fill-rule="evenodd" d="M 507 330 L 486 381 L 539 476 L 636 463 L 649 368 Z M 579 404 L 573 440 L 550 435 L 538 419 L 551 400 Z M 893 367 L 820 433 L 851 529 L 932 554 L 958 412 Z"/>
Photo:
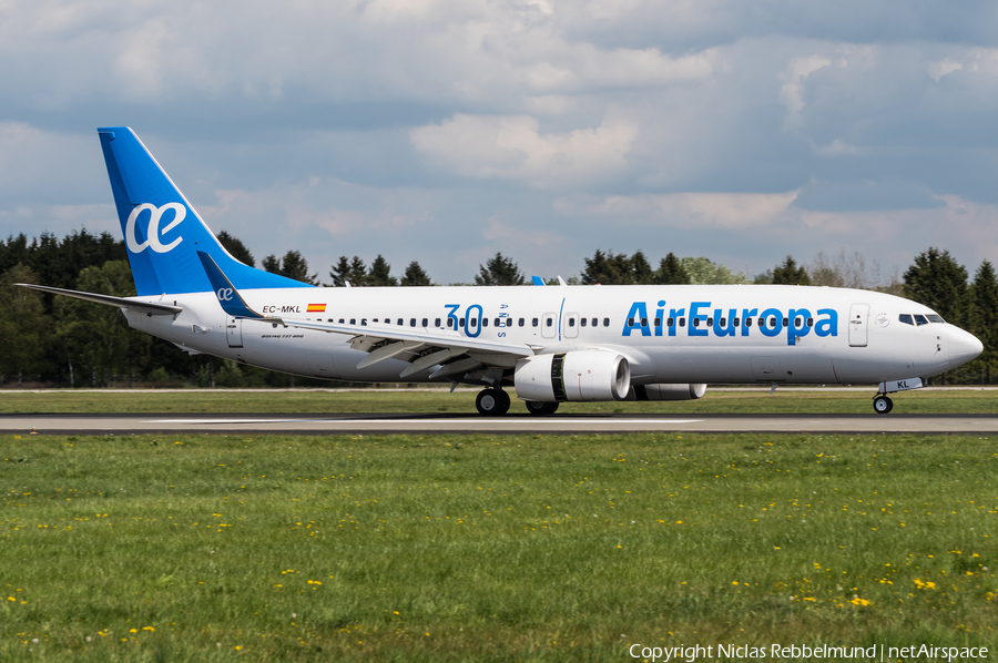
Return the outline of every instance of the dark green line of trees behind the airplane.
<path id="1" fill-rule="evenodd" d="M 237 259 L 256 266 L 252 253 L 236 237 L 218 233 L 220 242 Z M 953 384 L 991 384 L 998 343 L 998 277 L 984 261 L 969 277 L 947 251 L 930 247 L 915 257 L 902 276 L 884 276 L 875 261 L 858 252 L 837 255 L 819 252 L 806 264 L 793 256 L 748 278 L 706 257 L 678 257 L 673 253 L 653 266 L 643 252 L 631 255 L 597 249 L 583 258 L 580 274 L 569 284 L 790 284 L 854 287 L 900 295 L 925 304 L 947 322 L 974 333 L 985 346 L 976 360 L 944 376 Z M 391 274 L 384 256 L 367 264 L 359 256 L 340 256 L 328 277 L 312 273 L 297 251 L 268 255 L 261 267 L 315 285 L 350 287 L 431 286 L 418 262 L 400 275 Z M 556 283 L 556 278 L 547 278 Z M 101 293 L 118 297 L 135 294 L 124 242 L 109 233 L 85 230 L 61 239 L 51 233 L 28 239 L 24 234 L 0 241 L 0 387 L 32 385 L 72 387 L 286 386 L 294 378 L 203 355 L 192 356 L 161 339 L 131 329 L 118 308 L 16 287 L 33 283 Z M 448 285 L 526 285 L 528 279 L 510 257 L 497 253 L 471 282 Z M 297 378 L 299 385 L 325 385 Z M 998 379 L 998 374 L 996 374 Z"/>

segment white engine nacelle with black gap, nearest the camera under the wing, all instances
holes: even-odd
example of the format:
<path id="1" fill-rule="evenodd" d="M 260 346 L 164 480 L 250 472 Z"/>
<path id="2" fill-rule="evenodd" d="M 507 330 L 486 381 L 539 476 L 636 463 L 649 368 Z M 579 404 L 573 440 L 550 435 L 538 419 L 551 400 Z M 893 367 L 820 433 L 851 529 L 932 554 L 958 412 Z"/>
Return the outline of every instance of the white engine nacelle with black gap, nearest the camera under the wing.
<path id="1" fill-rule="evenodd" d="M 623 400 L 631 390 L 631 365 L 607 350 L 537 355 L 517 363 L 513 384 L 522 400 Z"/>

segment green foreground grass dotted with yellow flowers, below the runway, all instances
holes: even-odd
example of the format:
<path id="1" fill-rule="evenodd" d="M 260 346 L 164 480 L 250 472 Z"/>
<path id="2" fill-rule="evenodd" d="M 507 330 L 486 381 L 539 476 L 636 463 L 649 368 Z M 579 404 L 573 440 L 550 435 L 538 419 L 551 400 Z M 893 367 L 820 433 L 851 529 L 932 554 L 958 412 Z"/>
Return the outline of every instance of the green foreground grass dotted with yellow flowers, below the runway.
<path id="1" fill-rule="evenodd" d="M 998 645 L 992 438 L 0 445 L 3 661 Z"/>

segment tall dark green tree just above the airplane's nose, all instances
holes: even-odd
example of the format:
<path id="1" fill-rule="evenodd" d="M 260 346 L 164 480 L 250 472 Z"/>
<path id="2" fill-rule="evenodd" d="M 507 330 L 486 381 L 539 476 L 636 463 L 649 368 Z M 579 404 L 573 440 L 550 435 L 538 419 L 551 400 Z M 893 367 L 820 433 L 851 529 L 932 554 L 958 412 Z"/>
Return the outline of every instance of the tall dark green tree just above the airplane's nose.
<path id="1" fill-rule="evenodd" d="M 905 272 L 905 296 L 925 304 L 948 323 L 966 327 L 969 317 L 967 269 L 949 255 L 929 247 Z"/>

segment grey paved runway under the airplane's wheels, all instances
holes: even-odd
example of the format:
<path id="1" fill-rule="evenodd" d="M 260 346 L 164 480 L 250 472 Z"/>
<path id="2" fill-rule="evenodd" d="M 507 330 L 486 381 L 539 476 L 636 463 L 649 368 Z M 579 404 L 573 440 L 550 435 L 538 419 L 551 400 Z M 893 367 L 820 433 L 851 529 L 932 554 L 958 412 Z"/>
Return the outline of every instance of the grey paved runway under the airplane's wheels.
<path id="1" fill-rule="evenodd" d="M 998 434 L 998 415 L 0 415 L 8 435 Z"/>

